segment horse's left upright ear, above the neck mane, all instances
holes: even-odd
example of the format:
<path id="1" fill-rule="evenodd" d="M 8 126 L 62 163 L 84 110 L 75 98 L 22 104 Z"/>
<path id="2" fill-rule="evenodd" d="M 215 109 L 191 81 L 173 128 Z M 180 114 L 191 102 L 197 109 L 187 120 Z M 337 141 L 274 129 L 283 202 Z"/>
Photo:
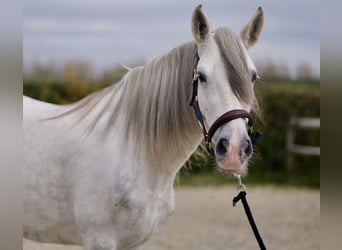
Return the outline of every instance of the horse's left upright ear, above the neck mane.
<path id="1" fill-rule="evenodd" d="M 210 34 L 210 23 L 208 16 L 203 12 L 202 5 L 198 5 L 192 13 L 191 30 L 198 44 L 208 40 Z"/>

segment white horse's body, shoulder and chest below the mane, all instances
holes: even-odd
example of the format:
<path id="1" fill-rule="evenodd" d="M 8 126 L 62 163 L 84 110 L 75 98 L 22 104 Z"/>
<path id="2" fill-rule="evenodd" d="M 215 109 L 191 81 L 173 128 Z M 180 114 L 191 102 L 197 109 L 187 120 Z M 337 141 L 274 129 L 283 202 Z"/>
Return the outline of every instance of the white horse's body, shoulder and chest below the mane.
<path id="1" fill-rule="evenodd" d="M 181 163 L 168 166 L 172 172 L 153 171 L 136 161 L 131 145 L 119 146 L 124 137 L 101 144 L 94 132 L 82 139 L 66 117 L 41 121 L 61 111 L 24 98 L 25 155 L 35 156 L 25 158 L 24 236 L 81 244 L 86 234 L 99 246 L 120 242 L 118 249 L 141 244 L 174 209 L 172 185 Z M 125 132 L 117 126 L 115 133 Z"/>

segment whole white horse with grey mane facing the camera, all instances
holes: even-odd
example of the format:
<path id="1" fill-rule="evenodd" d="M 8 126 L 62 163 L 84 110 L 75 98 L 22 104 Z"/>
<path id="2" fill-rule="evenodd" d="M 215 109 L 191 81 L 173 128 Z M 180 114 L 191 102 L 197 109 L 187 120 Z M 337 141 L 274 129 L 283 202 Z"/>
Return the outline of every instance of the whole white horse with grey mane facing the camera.
<path id="1" fill-rule="evenodd" d="M 175 209 L 174 180 L 201 144 L 201 127 L 227 113 L 211 149 L 223 174 L 246 174 L 249 113 L 258 106 L 247 49 L 263 22 L 259 7 L 239 35 L 212 30 L 199 5 L 193 41 L 116 84 L 68 105 L 24 96 L 24 238 L 85 250 L 143 249 Z M 240 113 L 232 117 L 234 111 Z"/>

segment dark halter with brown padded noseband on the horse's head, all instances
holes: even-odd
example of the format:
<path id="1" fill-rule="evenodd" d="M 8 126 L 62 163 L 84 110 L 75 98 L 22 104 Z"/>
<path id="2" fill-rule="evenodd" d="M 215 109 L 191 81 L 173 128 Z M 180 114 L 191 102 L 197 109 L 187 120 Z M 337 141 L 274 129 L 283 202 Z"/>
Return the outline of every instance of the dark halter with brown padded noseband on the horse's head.
<path id="1" fill-rule="evenodd" d="M 211 127 L 209 128 L 209 131 L 207 132 L 207 129 L 204 124 L 204 117 L 198 105 L 198 74 L 197 74 L 196 69 L 194 69 L 194 77 L 192 79 L 192 96 L 191 96 L 190 106 L 194 108 L 197 120 L 202 128 L 203 137 L 205 140 L 205 147 L 208 153 L 213 156 L 215 156 L 215 150 L 212 147 L 211 140 L 215 132 L 222 125 L 232 120 L 235 120 L 238 118 L 248 119 L 248 123 L 247 123 L 248 135 L 253 145 L 256 143 L 257 139 L 261 136 L 259 132 L 255 132 L 255 133 L 253 132 L 253 119 L 252 119 L 251 113 L 243 109 L 233 109 L 224 113 L 213 123 L 213 125 L 211 125 Z"/>

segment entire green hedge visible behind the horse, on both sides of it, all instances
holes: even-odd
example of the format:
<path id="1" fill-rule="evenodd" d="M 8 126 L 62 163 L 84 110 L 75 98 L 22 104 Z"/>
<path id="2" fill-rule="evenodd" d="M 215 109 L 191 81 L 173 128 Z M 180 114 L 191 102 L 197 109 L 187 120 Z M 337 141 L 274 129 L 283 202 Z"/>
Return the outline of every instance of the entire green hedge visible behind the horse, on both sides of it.
<path id="1" fill-rule="evenodd" d="M 93 83 L 77 85 L 64 82 L 34 81 L 24 82 L 24 94 L 52 102 L 69 103 L 78 100 L 90 92 L 105 87 Z M 318 83 L 287 82 L 277 84 L 257 83 L 256 95 L 263 113 L 263 122 L 256 122 L 255 129 L 263 136 L 258 141 L 252 163 L 249 167 L 249 182 L 290 183 L 319 187 L 319 160 L 317 156 L 295 155 L 291 175 L 286 176 L 286 127 L 291 116 L 320 117 L 320 88 Z M 319 146 L 319 130 L 298 130 L 297 143 Z M 200 149 L 199 149 L 200 150 Z M 204 152 L 200 157 L 194 155 L 183 168 L 179 178 L 212 175 L 214 160 Z M 189 174 L 191 172 L 191 175 Z M 226 180 L 217 178 L 214 181 Z M 189 180 L 191 182 L 191 180 Z"/>

